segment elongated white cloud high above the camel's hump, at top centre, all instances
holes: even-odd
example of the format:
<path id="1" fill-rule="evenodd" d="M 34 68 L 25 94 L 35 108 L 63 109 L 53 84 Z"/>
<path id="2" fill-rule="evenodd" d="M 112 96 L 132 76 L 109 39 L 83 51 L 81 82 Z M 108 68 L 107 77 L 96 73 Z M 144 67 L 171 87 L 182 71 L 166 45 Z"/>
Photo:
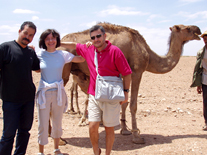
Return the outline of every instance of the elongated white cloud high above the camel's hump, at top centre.
<path id="1" fill-rule="evenodd" d="M 107 16 L 107 15 L 147 15 L 147 12 L 141 11 L 133 11 L 134 8 L 132 7 L 118 7 L 115 5 L 108 6 L 108 9 L 102 10 L 100 12 L 100 16 Z"/>

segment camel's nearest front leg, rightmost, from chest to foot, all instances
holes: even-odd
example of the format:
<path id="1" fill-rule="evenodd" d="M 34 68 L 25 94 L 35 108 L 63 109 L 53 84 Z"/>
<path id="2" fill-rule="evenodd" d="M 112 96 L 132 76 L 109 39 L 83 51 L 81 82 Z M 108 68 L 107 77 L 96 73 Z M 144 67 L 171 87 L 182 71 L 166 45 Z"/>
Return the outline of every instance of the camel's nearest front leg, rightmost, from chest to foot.
<path id="1" fill-rule="evenodd" d="M 136 122 L 136 112 L 137 112 L 137 96 L 139 85 L 141 81 L 142 73 L 132 73 L 132 82 L 131 82 L 131 100 L 130 100 L 130 111 L 132 117 L 132 141 L 136 144 L 144 144 L 144 139 L 140 137 L 140 131 L 137 128 Z M 133 80 L 136 79 L 136 80 Z"/>

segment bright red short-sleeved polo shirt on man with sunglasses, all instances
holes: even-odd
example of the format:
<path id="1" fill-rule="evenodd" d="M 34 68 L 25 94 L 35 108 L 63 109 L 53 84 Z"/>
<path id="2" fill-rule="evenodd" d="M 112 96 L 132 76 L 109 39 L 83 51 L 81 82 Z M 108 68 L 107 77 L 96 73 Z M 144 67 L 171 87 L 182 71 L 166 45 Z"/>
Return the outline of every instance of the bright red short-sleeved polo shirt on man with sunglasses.
<path id="1" fill-rule="evenodd" d="M 108 40 L 107 47 L 98 51 L 95 46 L 90 46 L 87 48 L 85 44 L 77 44 L 76 51 L 78 55 L 84 57 L 87 61 L 88 68 L 90 71 L 90 83 L 88 88 L 88 94 L 95 95 L 95 84 L 96 84 L 96 66 L 94 64 L 95 49 L 98 58 L 98 72 L 101 76 L 119 76 L 122 74 L 126 76 L 131 74 L 131 68 L 124 57 L 122 51 L 117 47 L 112 45 Z"/>

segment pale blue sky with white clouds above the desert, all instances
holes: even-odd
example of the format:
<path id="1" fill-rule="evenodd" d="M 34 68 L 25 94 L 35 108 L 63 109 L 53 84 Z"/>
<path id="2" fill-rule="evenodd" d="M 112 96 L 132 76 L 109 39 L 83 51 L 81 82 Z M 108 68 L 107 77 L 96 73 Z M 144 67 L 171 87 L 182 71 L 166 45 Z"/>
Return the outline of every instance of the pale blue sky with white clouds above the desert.
<path id="1" fill-rule="evenodd" d="M 207 30 L 206 0 L 0 0 L 0 43 L 17 39 L 24 21 L 32 21 L 37 33 L 31 44 L 38 48 L 40 34 L 56 29 L 61 37 L 86 30 L 96 22 L 109 22 L 139 31 L 159 55 L 168 50 L 169 27 L 196 25 Z M 183 55 L 195 56 L 203 41 L 190 41 Z"/>

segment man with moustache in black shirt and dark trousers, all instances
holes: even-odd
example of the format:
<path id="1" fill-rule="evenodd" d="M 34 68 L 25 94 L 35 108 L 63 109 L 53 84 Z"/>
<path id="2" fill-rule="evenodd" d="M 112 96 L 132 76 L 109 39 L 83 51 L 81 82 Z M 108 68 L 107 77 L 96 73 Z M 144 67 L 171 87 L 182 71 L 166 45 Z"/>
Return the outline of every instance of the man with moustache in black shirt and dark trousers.
<path id="1" fill-rule="evenodd" d="M 11 155 L 15 135 L 14 155 L 26 153 L 36 91 L 32 70 L 40 69 L 35 51 L 27 46 L 35 33 L 36 26 L 32 22 L 24 22 L 17 40 L 0 45 L 0 94 L 4 121 L 0 155 Z"/>

